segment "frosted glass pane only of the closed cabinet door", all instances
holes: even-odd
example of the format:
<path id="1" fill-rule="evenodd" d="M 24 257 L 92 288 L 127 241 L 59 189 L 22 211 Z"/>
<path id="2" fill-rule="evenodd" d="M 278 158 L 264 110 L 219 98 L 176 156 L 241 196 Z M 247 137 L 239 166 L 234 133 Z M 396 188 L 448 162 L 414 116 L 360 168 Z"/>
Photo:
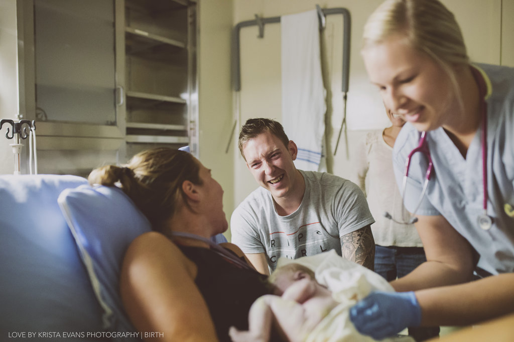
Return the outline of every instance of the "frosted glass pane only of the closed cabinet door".
<path id="1" fill-rule="evenodd" d="M 34 1 L 36 119 L 116 124 L 114 1 Z"/>

